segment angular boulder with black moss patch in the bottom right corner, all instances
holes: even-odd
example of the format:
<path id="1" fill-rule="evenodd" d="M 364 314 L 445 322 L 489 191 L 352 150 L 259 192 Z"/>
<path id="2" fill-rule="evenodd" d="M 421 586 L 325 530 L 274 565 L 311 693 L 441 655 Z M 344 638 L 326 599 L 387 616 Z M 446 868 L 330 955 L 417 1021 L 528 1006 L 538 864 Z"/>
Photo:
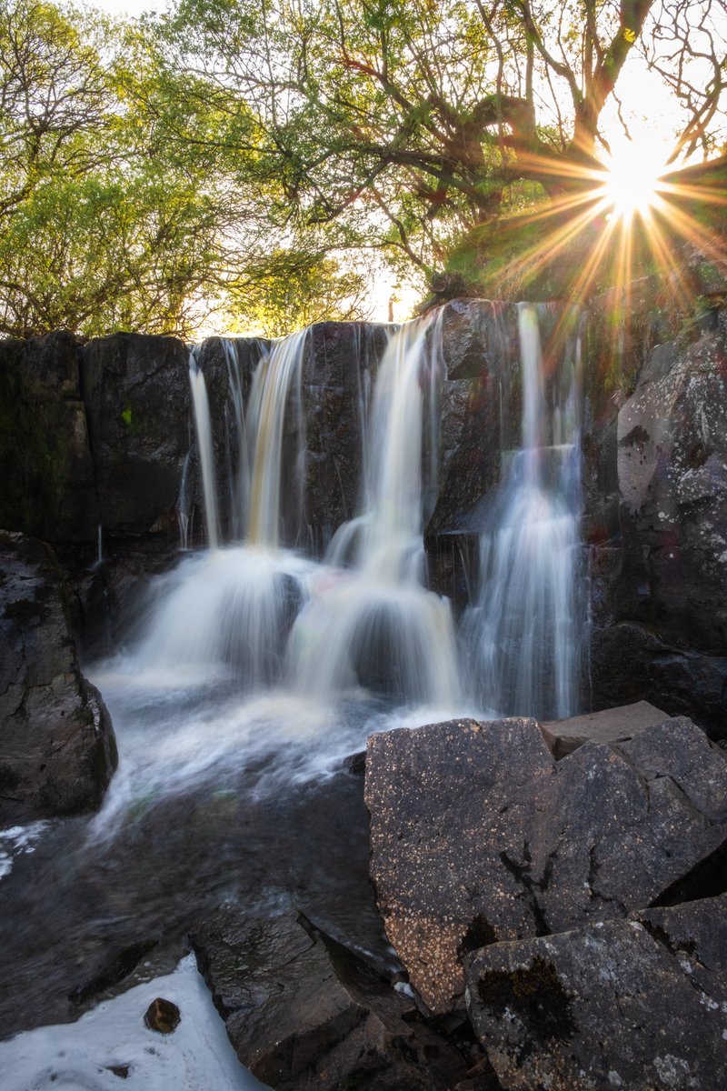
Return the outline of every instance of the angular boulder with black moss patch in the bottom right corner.
<path id="1" fill-rule="evenodd" d="M 724 1087 L 726 910 L 646 910 L 471 956 L 468 1010 L 501 1087 Z"/>

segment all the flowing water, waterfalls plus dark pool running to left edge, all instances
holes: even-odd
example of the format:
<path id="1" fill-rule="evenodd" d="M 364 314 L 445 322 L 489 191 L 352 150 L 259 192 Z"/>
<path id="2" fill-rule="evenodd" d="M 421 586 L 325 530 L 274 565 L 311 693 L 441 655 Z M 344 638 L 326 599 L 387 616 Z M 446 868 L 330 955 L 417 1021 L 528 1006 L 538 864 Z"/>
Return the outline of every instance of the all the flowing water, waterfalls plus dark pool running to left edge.
<path id="1" fill-rule="evenodd" d="M 426 587 L 423 546 L 446 370 L 440 319 L 391 331 L 362 400 L 358 512 L 323 560 L 291 548 L 305 527 L 307 336 L 262 353 L 246 404 L 226 350 L 239 452 L 227 543 L 193 356 L 208 548 L 158 577 L 138 635 L 87 668 L 121 755 L 100 813 L 43 824 L 33 851 L 4 858 L 0 836 L 0 897 L 12 906 L 0 948 L 11 994 L 23 996 L 22 1011 L 12 998 L 0 1004 L 11 1029 L 72 1018 L 66 997 L 109 950 L 149 938 L 148 967 L 130 981 L 171 971 L 190 921 L 223 902 L 302 909 L 390 966 L 367 877 L 361 779 L 347 757 L 392 727 L 577 710 L 578 352 L 554 382 L 537 310 L 521 308 L 522 443 L 483 502 L 477 590 L 458 631 L 449 600 Z M 186 472 L 182 493 L 187 535 Z M 27 848 L 19 837 L 12 846 Z M 38 876 L 50 900 L 38 898 Z M 106 1086 L 84 1078 L 78 1086 Z M 21 1091 L 1 1076 L 0 1088 Z"/>

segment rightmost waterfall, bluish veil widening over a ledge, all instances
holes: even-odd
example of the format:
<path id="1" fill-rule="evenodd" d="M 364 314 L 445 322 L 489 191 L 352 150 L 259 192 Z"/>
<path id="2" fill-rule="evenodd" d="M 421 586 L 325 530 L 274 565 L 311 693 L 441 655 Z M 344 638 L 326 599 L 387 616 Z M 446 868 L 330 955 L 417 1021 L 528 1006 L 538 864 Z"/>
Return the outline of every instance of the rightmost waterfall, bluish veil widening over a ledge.
<path id="1" fill-rule="evenodd" d="M 461 645 L 484 707 L 543 719 L 578 710 L 583 625 L 579 584 L 580 341 L 546 376 L 538 311 L 519 308 L 522 446 L 504 475 L 480 540 L 480 580 Z"/>

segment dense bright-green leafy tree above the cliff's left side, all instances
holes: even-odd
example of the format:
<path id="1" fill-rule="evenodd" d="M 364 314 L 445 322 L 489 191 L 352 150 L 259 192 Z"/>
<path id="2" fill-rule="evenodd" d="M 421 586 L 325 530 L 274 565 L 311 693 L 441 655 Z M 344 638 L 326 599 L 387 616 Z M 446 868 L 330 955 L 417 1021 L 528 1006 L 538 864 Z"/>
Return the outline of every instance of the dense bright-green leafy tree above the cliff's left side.
<path id="1" fill-rule="evenodd" d="M 293 267 L 316 269 L 331 316 L 355 310 L 362 277 L 271 221 L 251 110 L 232 163 L 207 84 L 137 25 L 0 0 L 0 333 L 194 336 L 215 309 L 280 332 L 311 313 Z"/>

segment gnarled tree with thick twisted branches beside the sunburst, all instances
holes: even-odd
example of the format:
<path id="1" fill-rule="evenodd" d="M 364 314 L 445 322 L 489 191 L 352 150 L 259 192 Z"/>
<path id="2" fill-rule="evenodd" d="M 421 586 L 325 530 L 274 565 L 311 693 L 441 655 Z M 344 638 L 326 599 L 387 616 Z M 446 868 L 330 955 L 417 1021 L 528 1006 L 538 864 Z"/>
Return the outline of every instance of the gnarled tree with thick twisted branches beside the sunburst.
<path id="1" fill-rule="evenodd" d="M 635 55 L 681 107 L 673 164 L 712 155 L 724 16 L 724 0 L 182 0 L 162 33 L 230 117 L 255 112 L 281 220 L 429 273 L 497 253 L 512 204 L 559 223 L 595 204 L 604 115 Z"/>

